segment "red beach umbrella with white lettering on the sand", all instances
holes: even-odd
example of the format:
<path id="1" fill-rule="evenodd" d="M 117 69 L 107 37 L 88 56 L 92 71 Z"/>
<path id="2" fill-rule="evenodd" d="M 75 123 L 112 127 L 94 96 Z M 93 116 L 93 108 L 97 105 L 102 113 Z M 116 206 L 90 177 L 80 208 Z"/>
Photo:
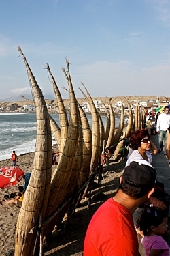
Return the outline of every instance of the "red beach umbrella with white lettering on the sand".
<path id="1" fill-rule="evenodd" d="M 24 177 L 24 171 L 20 167 L 2 167 L 0 173 L 0 188 L 10 188 L 16 185 Z"/>

